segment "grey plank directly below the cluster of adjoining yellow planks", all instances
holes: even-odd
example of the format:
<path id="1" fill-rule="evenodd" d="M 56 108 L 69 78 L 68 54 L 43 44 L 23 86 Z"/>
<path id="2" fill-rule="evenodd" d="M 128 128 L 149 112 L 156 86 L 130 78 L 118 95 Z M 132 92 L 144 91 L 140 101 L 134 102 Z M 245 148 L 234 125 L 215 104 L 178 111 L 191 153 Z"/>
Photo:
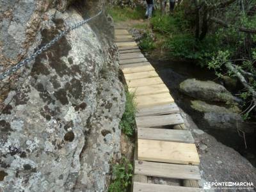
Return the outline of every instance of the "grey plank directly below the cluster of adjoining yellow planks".
<path id="1" fill-rule="evenodd" d="M 172 104 L 164 104 L 164 105 L 158 105 L 151 108 L 139 109 L 138 112 L 136 113 L 136 116 L 167 115 L 167 114 L 179 113 L 179 112 L 180 112 L 180 109 L 178 108 L 177 104 L 173 102 Z"/>

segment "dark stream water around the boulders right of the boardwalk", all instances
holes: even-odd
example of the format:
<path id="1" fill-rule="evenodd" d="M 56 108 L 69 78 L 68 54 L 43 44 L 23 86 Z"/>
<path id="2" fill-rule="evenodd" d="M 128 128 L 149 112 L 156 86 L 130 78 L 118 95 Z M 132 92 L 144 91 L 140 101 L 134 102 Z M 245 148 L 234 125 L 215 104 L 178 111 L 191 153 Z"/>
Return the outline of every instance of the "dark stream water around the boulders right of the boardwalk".
<path id="1" fill-rule="evenodd" d="M 208 134 L 211 134 L 214 136 L 214 138 L 216 138 L 216 140 L 220 141 L 224 145 L 234 148 L 242 156 L 246 157 L 246 159 L 248 159 L 248 161 L 250 161 L 253 166 L 256 166 L 255 133 L 245 135 L 247 146 L 246 148 L 244 144 L 244 138 L 239 136 L 236 131 L 230 131 L 228 129 L 214 129 L 214 127 L 209 127 L 207 124 L 205 124 L 202 118 L 204 114 L 195 111 L 190 107 L 192 98 L 179 92 L 179 84 L 186 79 L 195 78 L 201 81 L 214 81 L 216 83 L 221 83 L 213 71 L 198 67 L 195 65 L 195 63 L 187 61 L 150 60 L 150 63 L 152 63 L 152 65 L 156 68 L 157 73 L 170 89 L 175 102 L 179 105 L 180 108 L 182 108 L 183 111 L 191 116 L 199 129 L 202 129 Z"/>

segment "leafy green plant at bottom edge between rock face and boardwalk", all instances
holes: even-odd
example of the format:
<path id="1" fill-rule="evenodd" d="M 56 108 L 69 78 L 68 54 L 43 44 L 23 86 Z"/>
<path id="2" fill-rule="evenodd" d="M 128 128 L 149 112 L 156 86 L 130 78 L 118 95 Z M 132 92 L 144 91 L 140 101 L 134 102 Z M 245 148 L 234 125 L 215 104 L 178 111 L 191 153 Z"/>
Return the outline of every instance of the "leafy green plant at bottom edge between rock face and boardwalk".
<path id="1" fill-rule="evenodd" d="M 132 164 L 122 157 L 120 164 L 113 166 L 112 175 L 114 177 L 113 182 L 109 185 L 109 192 L 124 192 L 128 191 L 129 186 L 132 183 Z"/>

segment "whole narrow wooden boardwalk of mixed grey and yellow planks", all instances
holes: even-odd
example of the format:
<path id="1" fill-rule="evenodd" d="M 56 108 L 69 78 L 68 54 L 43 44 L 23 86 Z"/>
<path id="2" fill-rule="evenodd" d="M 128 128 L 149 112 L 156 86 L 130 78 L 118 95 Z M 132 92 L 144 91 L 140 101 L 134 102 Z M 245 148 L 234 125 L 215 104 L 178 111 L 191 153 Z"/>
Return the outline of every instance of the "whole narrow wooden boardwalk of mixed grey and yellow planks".
<path id="1" fill-rule="evenodd" d="M 115 29 L 115 42 L 124 80 L 135 93 L 138 108 L 133 191 L 202 191 L 195 141 L 184 129 L 168 88 L 127 30 Z M 147 177 L 180 179 L 182 185 L 150 184 Z"/>

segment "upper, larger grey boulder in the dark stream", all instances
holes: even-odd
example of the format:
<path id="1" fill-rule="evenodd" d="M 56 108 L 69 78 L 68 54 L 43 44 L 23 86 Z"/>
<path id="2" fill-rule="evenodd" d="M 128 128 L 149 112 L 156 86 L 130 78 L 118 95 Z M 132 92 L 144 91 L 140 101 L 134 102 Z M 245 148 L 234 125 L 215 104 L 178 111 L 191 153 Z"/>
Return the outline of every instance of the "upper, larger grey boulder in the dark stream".
<path id="1" fill-rule="evenodd" d="M 228 102 L 239 101 L 221 84 L 213 81 L 198 81 L 196 79 L 186 79 L 180 83 L 180 91 L 199 100 Z"/>

